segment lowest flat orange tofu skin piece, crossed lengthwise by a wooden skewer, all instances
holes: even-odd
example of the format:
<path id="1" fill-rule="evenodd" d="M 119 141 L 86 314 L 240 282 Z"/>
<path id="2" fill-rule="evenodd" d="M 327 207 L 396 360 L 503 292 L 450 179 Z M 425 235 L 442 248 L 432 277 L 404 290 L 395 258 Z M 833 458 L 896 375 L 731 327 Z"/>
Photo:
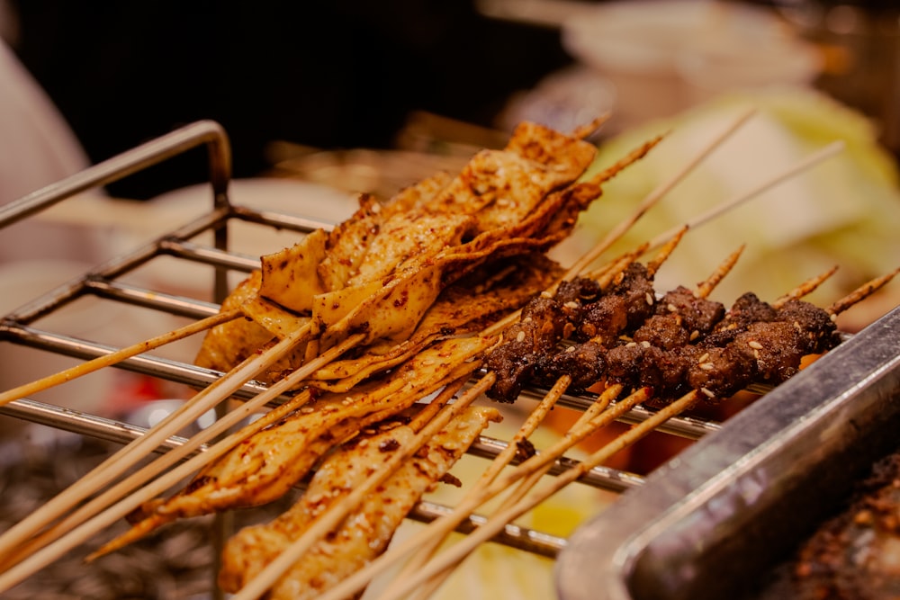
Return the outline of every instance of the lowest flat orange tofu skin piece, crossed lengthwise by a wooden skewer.
<path id="1" fill-rule="evenodd" d="M 269 598 L 313 598 L 373 560 L 387 547 L 396 528 L 422 495 L 445 477 L 476 437 L 500 421 L 493 407 L 469 407 L 405 462 L 378 493 L 320 540 L 271 590 Z M 220 587 L 237 592 L 328 510 L 385 461 L 409 443 L 415 432 L 398 425 L 362 434 L 323 462 L 300 500 L 268 524 L 246 527 L 226 545 Z"/>

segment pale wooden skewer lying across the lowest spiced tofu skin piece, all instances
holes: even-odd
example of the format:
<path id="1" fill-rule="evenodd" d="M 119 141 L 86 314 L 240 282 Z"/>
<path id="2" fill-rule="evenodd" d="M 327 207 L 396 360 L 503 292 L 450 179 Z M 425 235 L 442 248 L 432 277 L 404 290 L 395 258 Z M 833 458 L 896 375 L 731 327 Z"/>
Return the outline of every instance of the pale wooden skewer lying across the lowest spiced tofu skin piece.
<path id="1" fill-rule="evenodd" d="M 466 376 L 468 379 L 468 376 Z M 334 506 L 329 509 L 315 523 L 303 533 L 303 535 L 291 543 L 278 557 L 266 565 L 266 568 L 259 572 L 256 578 L 247 582 L 232 600 L 248 600 L 256 599 L 266 593 L 266 590 L 275 585 L 275 582 L 281 578 L 288 569 L 291 569 L 302 555 L 310 550 L 312 545 L 318 542 L 322 537 L 332 531 L 338 524 L 343 521 L 347 515 L 353 511 L 356 506 L 372 492 L 372 490 L 380 485 L 385 479 L 389 478 L 392 473 L 397 470 L 410 456 L 419 451 L 419 448 L 446 426 L 456 415 L 460 414 L 465 407 L 482 395 L 484 390 L 491 387 L 494 376 L 488 373 L 478 381 L 471 389 L 457 399 L 453 404 L 444 407 L 428 425 L 413 438 L 413 442 L 404 445 L 400 451 L 394 452 L 391 458 L 385 461 L 372 475 L 358 487 L 354 488 L 346 497 L 341 498 Z"/>

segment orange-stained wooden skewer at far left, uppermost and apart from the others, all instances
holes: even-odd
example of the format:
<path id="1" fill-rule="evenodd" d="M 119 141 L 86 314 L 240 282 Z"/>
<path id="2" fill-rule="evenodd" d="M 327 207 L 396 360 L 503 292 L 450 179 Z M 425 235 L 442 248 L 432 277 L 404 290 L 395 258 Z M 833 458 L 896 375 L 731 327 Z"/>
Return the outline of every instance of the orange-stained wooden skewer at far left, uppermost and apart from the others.
<path id="1" fill-rule="evenodd" d="M 220 312 L 211 317 L 203 318 L 199 321 L 194 321 L 193 323 L 185 325 L 184 327 L 173 329 L 172 331 L 169 331 L 161 336 L 151 337 L 148 340 L 139 342 L 138 344 L 130 345 L 125 348 L 121 348 L 120 350 L 116 350 L 115 352 L 112 352 L 110 354 L 97 356 L 96 358 L 91 359 L 90 361 L 86 361 L 85 363 L 78 363 L 74 367 L 70 367 L 65 371 L 53 373 L 36 381 L 29 381 L 28 383 L 24 383 L 23 385 L 13 388 L 12 390 L 6 390 L 0 393 L 0 406 L 8 404 L 14 400 L 23 399 L 24 397 L 30 396 L 31 394 L 36 394 L 39 391 L 49 390 L 49 388 L 65 383 L 66 381 L 72 381 L 77 377 L 99 371 L 100 369 L 103 369 L 103 367 L 121 363 L 125 359 L 131 358 L 132 356 L 137 356 L 138 354 L 143 354 L 145 352 L 149 352 L 150 350 L 155 350 L 162 345 L 176 342 L 188 336 L 193 336 L 194 334 L 199 333 L 205 329 L 215 327 L 217 325 L 220 325 L 221 323 L 226 323 L 240 316 L 241 312 L 239 310 Z"/>

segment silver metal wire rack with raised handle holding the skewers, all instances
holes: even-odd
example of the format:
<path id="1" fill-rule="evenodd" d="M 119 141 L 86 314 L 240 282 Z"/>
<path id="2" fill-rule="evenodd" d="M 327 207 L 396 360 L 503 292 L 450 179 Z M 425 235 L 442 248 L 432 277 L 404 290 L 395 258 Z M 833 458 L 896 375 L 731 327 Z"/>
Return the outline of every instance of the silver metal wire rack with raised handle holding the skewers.
<path id="1" fill-rule="evenodd" d="M 209 181 L 211 186 L 211 210 L 199 219 L 161 232 L 158 237 L 133 251 L 117 255 L 103 264 L 91 268 L 75 279 L 65 282 L 56 289 L 28 301 L 23 306 L 4 316 L 0 321 L 0 343 L 25 345 L 54 354 L 62 354 L 79 360 L 89 360 L 103 354 L 111 354 L 119 349 L 96 339 L 69 336 L 40 327 L 40 319 L 52 313 L 67 309 L 67 306 L 83 297 L 94 297 L 103 301 L 122 303 L 142 309 L 166 313 L 177 318 L 200 319 L 215 314 L 219 303 L 229 292 L 229 274 L 249 273 L 259 265 L 258 257 L 229 251 L 229 223 L 241 221 L 264 228 L 294 231 L 298 235 L 316 228 L 330 228 L 333 224 L 320 219 L 311 219 L 281 211 L 257 210 L 229 201 L 229 181 L 231 157 L 229 139 L 221 126 L 214 121 L 197 121 L 175 130 L 161 138 L 154 139 L 137 148 L 112 157 L 89 167 L 57 184 L 51 184 L 31 193 L 20 200 L 0 207 L 0 235 L 2 228 L 20 220 L 28 219 L 51 206 L 72 198 L 79 193 L 102 187 L 149 166 L 183 154 L 193 148 L 205 146 L 208 151 Z M 201 234 L 211 234 L 212 243 L 200 243 L 196 238 Z M 279 248 L 273 248 L 274 252 Z M 174 257 L 180 261 L 207 265 L 213 271 L 211 300 L 198 300 L 166 291 L 148 289 L 125 281 L 126 275 L 140 267 L 157 261 L 161 257 Z M 134 340 L 134 343 L 139 340 Z M 172 360 L 153 354 L 139 354 L 114 365 L 115 368 L 140 375 L 184 384 L 199 389 L 211 384 L 221 373 L 202 369 L 190 363 Z M 236 399 L 252 398 L 265 386 L 250 381 L 234 394 Z M 540 398 L 544 390 L 527 389 L 524 397 Z M 567 394 L 559 404 L 583 410 L 596 399 L 591 394 Z M 97 416 L 89 412 L 58 407 L 34 399 L 15 400 L 0 407 L 0 414 L 13 416 L 24 421 L 90 436 L 113 443 L 128 443 L 145 433 L 145 429 L 129 423 Z M 631 410 L 623 421 L 638 423 L 644 421 L 652 411 L 644 407 Z M 722 427 L 720 422 L 693 416 L 676 416 L 658 431 L 690 440 L 698 440 Z M 184 438 L 173 436 L 157 448 L 157 452 L 183 443 Z M 470 454 L 492 458 L 507 442 L 482 435 L 473 444 Z M 202 451 L 201 451 L 202 452 Z M 557 461 L 551 474 L 561 472 L 572 465 L 573 460 L 563 458 Z M 635 473 L 599 467 L 591 470 L 580 480 L 581 484 L 622 493 L 640 487 L 644 477 Z M 446 514 L 449 508 L 423 501 L 410 514 L 410 518 L 428 522 Z M 482 517 L 473 515 L 460 530 L 471 528 L 482 522 Z M 220 524 L 218 540 L 213 544 L 218 550 L 222 536 L 228 532 L 228 524 Z M 510 524 L 495 540 L 510 547 L 555 558 L 563 550 L 566 540 Z"/>

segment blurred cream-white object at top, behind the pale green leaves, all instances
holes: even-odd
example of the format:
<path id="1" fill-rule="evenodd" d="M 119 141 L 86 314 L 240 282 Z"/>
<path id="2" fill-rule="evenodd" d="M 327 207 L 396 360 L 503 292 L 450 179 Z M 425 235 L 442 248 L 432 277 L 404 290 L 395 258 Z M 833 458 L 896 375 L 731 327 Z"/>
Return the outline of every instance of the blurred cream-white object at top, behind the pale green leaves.
<path id="1" fill-rule="evenodd" d="M 808 85 L 818 54 L 777 14 L 713 0 L 598 4 L 562 24 L 563 47 L 617 90 L 618 127 L 670 117 L 723 92 Z"/>

